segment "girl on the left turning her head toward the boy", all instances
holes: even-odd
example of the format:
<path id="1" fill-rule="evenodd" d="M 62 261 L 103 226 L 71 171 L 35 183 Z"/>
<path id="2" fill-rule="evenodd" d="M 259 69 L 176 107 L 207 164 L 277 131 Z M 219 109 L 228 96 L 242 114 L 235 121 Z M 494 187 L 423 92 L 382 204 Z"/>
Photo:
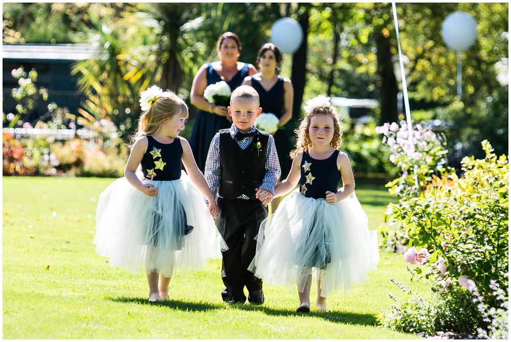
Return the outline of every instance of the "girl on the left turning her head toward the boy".
<path id="1" fill-rule="evenodd" d="M 94 243 L 110 265 L 133 273 L 145 265 L 149 301 L 154 302 L 169 299 L 174 267 L 201 267 L 219 256 L 213 219 L 218 208 L 188 141 L 179 137 L 187 105 L 156 86 L 141 93 L 140 103 L 143 114 L 125 177 L 99 198 Z M 181 161 L 189 176 L 181 173 Z M 143 179 L 135 174 L 139 164 Z M 222 246 L 226 249 L 225 242 Z"/>

